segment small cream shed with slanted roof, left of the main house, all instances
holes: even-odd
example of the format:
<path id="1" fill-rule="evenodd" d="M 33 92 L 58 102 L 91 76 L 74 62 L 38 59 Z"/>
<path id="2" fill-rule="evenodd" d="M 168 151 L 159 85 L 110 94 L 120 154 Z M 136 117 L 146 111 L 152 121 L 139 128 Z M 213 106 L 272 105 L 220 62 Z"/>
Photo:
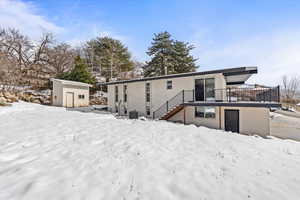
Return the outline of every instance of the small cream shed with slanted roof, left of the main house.
<path id="1" fill-rule="evenodd" d="M 62 107 L 83 107 L 89 105 L 90 84 L 51 79 L 53 83 L 52 105 Z"/>

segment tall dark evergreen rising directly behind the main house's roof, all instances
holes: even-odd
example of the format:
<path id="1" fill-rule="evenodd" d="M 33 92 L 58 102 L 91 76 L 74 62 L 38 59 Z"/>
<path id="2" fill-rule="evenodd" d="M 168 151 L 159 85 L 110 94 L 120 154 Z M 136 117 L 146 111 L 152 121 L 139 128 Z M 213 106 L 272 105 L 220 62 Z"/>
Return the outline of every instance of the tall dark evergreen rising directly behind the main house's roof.
<path id="1" fill-rule="evenodd" d="M 190 55 L 194 49 L 189 43 L 174 41 L 170 33 L 154 34 L 147 54 L 151 60 L 143 67 L 144 76 L 160 76 L 193 72 L 197 69 L 196 59 Z"/>

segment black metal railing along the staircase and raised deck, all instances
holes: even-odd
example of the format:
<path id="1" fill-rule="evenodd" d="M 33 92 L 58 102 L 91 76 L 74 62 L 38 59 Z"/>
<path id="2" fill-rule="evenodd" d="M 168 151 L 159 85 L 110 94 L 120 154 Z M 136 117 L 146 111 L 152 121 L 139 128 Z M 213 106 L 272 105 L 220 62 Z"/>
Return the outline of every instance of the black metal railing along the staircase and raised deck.
<path id="1" fill-rule="evenodd" d="M 214 89 L 213 95 L 204 97 L 204 100 L 195 99 L 195 96 L 197 95 L 194 90 L 180 91 L 155 110 L 153 118 L 159 119 L 176 106 L 190 102 L 280 102 L 280 88 L 277 86 Z"/>

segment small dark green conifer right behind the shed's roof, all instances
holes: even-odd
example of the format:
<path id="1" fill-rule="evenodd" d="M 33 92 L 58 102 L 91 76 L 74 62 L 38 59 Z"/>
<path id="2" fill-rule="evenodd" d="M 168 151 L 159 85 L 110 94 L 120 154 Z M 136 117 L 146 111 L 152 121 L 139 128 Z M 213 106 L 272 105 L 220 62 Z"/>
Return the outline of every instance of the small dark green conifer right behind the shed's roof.
<path id="1" fill-rule="evenodd" d="M 75 58 L 75 67 L 72 71 L 62 73 L 58 75 L 57 78 L 89 84 L 95 83 L 95 78 L 89 72 L 88 66 L 84 63 L 80 56 Z"/>

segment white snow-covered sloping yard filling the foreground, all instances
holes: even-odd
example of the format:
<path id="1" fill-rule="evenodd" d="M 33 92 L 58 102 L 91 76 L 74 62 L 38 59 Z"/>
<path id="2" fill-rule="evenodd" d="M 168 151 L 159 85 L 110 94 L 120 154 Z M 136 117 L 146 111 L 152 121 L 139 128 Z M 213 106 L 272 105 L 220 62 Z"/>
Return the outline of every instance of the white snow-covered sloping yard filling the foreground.
<path id="1" fill-rule="evenodd" d="M 300 199 L 300 143 L 38 104 L 0 108 L 0 199 Z"/>

